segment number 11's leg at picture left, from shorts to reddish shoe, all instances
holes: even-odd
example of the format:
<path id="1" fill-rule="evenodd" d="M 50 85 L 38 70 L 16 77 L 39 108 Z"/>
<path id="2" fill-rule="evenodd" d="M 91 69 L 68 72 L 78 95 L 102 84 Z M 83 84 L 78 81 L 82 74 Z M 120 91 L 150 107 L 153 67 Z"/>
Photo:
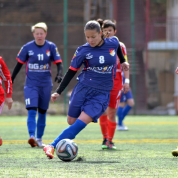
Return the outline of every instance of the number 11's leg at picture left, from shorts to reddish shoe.
<path id="1" fill-rule="evenodd" d="M 28 143 L 31 147 L 35 147 L 35 131 L 36 131 L 36 114 L 38 107 L 38 89 L 33 86 L 25 86 L 24 87 L 24 97 L 25 97 L 25 105 L 28 110 L 27 117 L 27 128 L 29 133 Z"/>

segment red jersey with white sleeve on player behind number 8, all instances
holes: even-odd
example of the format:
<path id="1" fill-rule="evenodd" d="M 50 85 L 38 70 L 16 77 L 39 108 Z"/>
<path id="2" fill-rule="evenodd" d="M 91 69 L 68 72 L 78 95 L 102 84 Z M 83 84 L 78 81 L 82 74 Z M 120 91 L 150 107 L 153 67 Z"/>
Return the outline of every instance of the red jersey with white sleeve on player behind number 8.
<path id="1" fill-rule="evenodd" d="M 121 49 L 122 49 L 122 53 L 127 61 L 127 51 L 126 51 L 126 47 L 124 45 L 124 43 L 119 42 Z M 120 64 L 120 60 L 117 57 L 117 69 L 116 69 L 116 77 L 114 79 L 114 86 L 113 89 L 111 91 L 118 91 L 121 90 L 123 87 L 123 83 L 122 83 L 122 69 L 121 69 L 121 64 Z"/>

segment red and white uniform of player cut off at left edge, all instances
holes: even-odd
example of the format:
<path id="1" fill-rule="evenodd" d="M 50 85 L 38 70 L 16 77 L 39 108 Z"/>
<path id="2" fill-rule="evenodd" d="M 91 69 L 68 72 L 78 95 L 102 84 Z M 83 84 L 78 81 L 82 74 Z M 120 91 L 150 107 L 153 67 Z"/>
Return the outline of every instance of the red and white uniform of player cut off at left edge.
<path id="1" fill-rule="evenodd" d="M 12 95 L 11 74 L 3 58 L 0 56 L 0 114 L 2 112 L 4 101 L 5 101 L 5 93 L 2 87 L 2 81 L 4 82 L 4 85 L 5 85 L 6 98 L 11 98 L 11 95 Z"/>

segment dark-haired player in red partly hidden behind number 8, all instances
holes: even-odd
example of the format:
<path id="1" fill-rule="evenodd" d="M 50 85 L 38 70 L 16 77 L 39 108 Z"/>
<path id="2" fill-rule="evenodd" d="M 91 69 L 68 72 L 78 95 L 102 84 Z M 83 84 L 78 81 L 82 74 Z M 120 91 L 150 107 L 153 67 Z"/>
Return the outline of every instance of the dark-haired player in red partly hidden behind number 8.
<path id="1" fill-rule="evenodd" d="M 108 33 L 108 37 L 112 37 L 116 34 L 116 22 L 111 20 L 102 20 L 98 19 L 98 22 L 100 23 L 102 27 L 103 33 Z M 127 60 L 127 52 L 125 45 L 119 41 L 119 44 L 121 46 L 122 53 Z M 114 79 L 114 86 L 111 90 L 110 94 L 110 101 L 109 106 L 107 110 L 103 113 L 103 115 L 100 117 L 100 127 L 101 132 L 103 134 L 103 143 L 101 148 L 102 149 L 116 149 L 116 146 L 112 142 L 112 139 L 114 137 L 115 129 L 116 129 L 116 112 L 117 108 L 119 106 L 119 101 L 122 93 L 122 88 L 129 88 L 129 71 L 124 70 L 124 74 L 126 76 L 126 82 L 123 85 L 122 84 L 122 75 L 121 75 L 121 65 L 120 60 L 117 57 L 117 70 L 116 70 L 116 77 Z"/>

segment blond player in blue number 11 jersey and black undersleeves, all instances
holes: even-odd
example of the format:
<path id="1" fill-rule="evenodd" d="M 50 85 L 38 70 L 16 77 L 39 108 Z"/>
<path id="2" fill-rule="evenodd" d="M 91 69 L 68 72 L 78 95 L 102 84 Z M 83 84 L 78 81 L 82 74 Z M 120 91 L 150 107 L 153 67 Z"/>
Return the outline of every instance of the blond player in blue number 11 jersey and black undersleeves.
<path id="1" fill-rule="evenodd" d="M 62 60 L 58 48 L 46 40 L 47 25 L 43 22 L 32 26 L 34 40 L 25 44 L 17 55 L 17 64 L 12 73 L 12 82 L 23 64 L 26 63 L 24 96 L 28 110 L 28 143 L 31 147 L 44 147 L 42 136 L 46 126 L 46 113 L 52 90 L 51 62 L 57 65 L 55 81 L 62 80 Z M 36 123 L 36 115 L 38 119 Z M 37 130 L 37 134 L 35 134 Z M 35 137 L 36 136 L 36 137 Z"/>

